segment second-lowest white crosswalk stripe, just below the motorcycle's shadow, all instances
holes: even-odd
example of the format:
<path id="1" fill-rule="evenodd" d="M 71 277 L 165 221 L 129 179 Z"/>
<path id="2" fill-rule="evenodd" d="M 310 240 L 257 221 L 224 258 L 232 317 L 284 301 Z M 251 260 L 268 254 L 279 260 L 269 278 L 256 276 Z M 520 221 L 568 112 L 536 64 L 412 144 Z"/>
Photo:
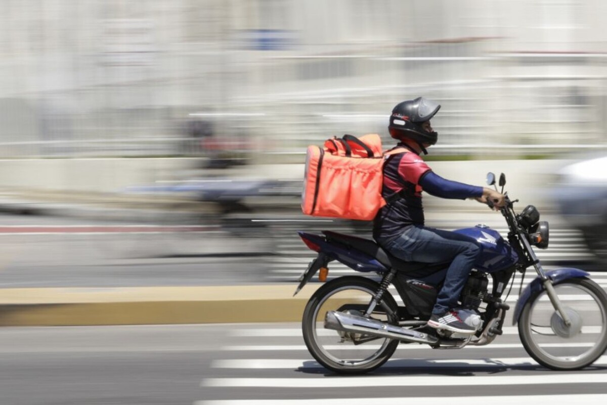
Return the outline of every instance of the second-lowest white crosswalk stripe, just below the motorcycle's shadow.
<path id="1" fill-rule="evenodd" d="M 280 388 L 350 388 L 350 387 L 464 387 L 523 386 L 541 384 L 605 384 L 607 374 L 569 373 L 510 376 L 358 376 L 356 378 L 208 378 L 201 387 L 280 387 Z"/>

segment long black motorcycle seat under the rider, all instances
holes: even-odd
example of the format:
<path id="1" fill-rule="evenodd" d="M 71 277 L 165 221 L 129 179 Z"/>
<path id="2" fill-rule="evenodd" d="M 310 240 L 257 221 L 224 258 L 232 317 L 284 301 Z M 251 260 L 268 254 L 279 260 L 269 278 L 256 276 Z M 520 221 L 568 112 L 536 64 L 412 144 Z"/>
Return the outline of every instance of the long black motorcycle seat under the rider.
<path id="1" fill-rule="evenodd" d="M 409 274 L 410 276 L 424 276 L 433 271 L 438 271 L 446 267 L 446 264 L 428 264 L 421 262 L 407 262 L 405 260 L 398 259 L 398 257 L 392 256 L 392 254 L 385 251 L 381 246 L 378 245 L 374 240 L 365 239 L 358 236 L 346 235 L 333 231 L 322 231 L 329 242 L 342 243 L 348 248 L 354 248 L 361 251 L 362 253 L 368 254 L 371 257 L 375 257 L 382 265 L 388 268 L 396 268 L 396 270 L 402 273 Z"/>

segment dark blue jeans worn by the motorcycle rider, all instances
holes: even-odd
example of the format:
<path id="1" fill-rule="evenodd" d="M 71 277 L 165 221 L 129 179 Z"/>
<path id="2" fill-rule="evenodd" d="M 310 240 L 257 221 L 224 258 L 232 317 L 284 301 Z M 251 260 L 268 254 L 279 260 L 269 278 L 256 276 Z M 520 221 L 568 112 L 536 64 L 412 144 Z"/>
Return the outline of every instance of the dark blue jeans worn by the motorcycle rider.
<path id="1" fill-rule="evenodd" d="M 436 315 L 457 305 L 470 270 L 481 254 L 481 246 L 472 237 L 422 225 L 407 226 L 396 239 L 378 238 L 377 242 L 392 256 L 407 262 L 451 262 L 443 288 L 438 292 L 436 304 L 432 308 L 432 313 Z"/>

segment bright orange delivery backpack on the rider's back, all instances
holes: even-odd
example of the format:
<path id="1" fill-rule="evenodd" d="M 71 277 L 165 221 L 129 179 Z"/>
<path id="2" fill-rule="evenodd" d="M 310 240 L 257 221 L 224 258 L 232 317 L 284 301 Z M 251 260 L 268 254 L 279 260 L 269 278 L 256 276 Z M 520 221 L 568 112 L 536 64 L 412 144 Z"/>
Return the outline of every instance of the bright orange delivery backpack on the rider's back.
<path id="1" fill-rule="evenodd" d="M 378 134 L 344 135 L 307 149 L 302 211 L 317 217 L 372 220 L 386 204 L 381 196 L 385 159 Z"/>

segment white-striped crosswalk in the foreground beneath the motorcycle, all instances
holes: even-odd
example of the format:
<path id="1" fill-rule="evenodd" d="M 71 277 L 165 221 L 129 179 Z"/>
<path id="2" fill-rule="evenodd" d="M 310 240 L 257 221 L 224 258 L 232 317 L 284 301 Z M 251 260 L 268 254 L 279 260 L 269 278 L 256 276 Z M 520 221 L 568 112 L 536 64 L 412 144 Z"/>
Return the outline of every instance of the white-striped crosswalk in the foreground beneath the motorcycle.
<path id="1" fill-rule="evenodd" d="M 597 332 L 596 328 L 584 331 Z M 321 335 L 334 333 L 332 330 L 320 332 Z M 393 358 L 381 367 L 381 373 L 362 376 L 327 375 L 327 370 L 302 344 L 301 329 L 294 324 L 240 325 L 230 330 L 225 339 L 231 344 L 223 345 L 218 358 L 210 364 L 212 372 L 200 381 L 202 392 L 214 395 L 212 399 L 197 400 L 194 405 L 400 405 L 412 400 L 409 396 L 399 396 L 402 390 L 421 392 L 421 395 L 416 393 L 416 401 L 443 405 L 450 399 L 450 389 L 460 387 L 465 389 L 464 396 L 459 390 L 451 398 L 455 403 L 464 403 L 464 399 L 470 403 L 527 403 L 529 395 L 533 395 L 534 401 L 542 398 L 554 404 L 582 401 L 603 404 L 607 400 L 607 390 L 603 388 L 607 383 L 607 355 L 594 362 L 594 372 L 550 372 L 526 355 L 518 342 L 516 327 L 504 328 L 504 335 L 498 337 L 501 342 L 464 350 L 432 350 L 426 345 L 401 344 Z M 264 344 L 268 339 L 278 340 Z M 299 343 L 294 344 L 296 342 Z M 363 346 L 375 347 L 373 344 Z M 574 342 L 552 346 L 591 347 L 591 344 Z M 339 347 L 336 344 L 327 350 Z M 353 347 L 347 349 L 353 350 Z M 381 395 L 387 397 L 378 395 L 370 399 L 360 395 L 368 390 L 376 393 L 376 389 L 381 389 Z M 437 392 L 440 395 L 433 395 Z M 255 395 L 251 396 L 252 393 Z"/>

